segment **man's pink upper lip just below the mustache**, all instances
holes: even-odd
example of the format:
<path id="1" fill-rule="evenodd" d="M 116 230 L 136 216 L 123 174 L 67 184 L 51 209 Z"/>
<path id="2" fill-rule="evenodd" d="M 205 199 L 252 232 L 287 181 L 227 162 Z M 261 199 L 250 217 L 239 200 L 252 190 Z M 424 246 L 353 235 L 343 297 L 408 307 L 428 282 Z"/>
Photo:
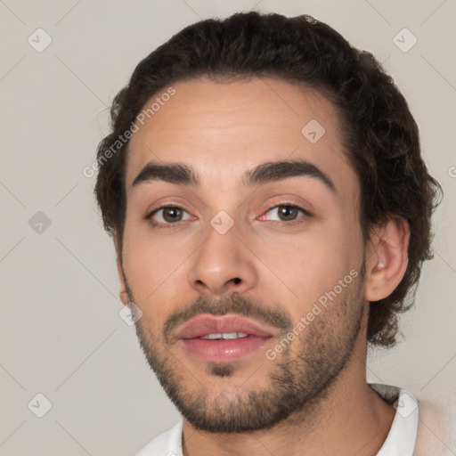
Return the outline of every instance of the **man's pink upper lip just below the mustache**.
<path id="1" fill-rule="evenodd" d="M 244 332 L 261 338 L 273 337 L 273 331 L 237 315 L 201 315 L 187 322 L 177 331 L 177 338 L 200 338 L 208 334 Z"/>

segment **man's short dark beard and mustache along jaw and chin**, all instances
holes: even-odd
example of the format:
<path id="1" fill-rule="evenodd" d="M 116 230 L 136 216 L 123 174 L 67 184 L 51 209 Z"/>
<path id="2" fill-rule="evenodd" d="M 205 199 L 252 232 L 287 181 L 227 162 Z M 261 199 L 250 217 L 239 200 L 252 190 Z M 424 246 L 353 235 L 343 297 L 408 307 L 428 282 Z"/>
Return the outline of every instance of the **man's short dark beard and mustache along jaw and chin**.
<path id="1" fill-rule="evenodd" d="M 356 281 L 309 322 L 297 338 L 270 363 L 266 387 L 240 391 L 236 395 L 218 391 L 208 394 L 204 380 L 191 372 L 170 351 L 169 335 L 177 325 L 199 314 L 240 314 L 281 330 L 278 341 L 286 338 L 293 324 L 280 306 L 265 306 L 234 292 L 219 299 L 199 296 L 191 305 L 171 314 L 160 336 L 135 323 L 142 351 L 169 399 L 195 428 L 213 433 L 242 433 L 273 428 L 300 411 L 315 410 L 328 397 L 331 385 L 346 367 L 362 328 L 365 265 Z M 130 300 L 134 294 L 129 289 Z M 151 316 L 153 318 L 153 316 Z M 289 349 L 293 346 L 293 350 Z M 230 378 L 235 363 L 207 363 L 207 374 Z M 229 382 L 229 379 L 227 379 Z M 197 386 L 195 391 L 194 386 Z"/>

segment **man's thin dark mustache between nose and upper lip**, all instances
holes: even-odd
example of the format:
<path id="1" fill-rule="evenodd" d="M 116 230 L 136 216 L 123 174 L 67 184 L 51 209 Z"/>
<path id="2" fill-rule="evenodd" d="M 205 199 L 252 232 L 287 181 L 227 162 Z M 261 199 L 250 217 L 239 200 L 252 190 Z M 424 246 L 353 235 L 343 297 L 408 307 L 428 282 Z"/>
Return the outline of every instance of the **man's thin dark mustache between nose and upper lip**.
<path id="1" fill-rule="evenodd" d="M 239 292 L 219 298 L 199 296 L 191 305 L 171 314 L 163 326 L 163 337 L 169 340 L 173 330 L 184 322 L 189 322 L 199 314 L 226 315 L 238 314 L 258 322 L 264 322 L 283 332 L 293 328 L 289 314 L 279 308 L 264 305 L 260 300 L 246 297 Z"/>

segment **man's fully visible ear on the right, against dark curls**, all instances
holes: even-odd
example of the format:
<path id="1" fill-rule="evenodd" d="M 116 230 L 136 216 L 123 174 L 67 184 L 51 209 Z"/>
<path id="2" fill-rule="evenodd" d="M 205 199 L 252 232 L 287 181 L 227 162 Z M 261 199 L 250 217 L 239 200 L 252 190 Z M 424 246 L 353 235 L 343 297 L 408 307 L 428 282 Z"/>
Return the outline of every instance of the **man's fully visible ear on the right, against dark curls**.
<path id="1" fill-rule="evenodd" d="M 399 216 L 391 216 L 371 232 L 365 257 L 367 301 L 388 297 L 403 280 L 409 261 L 409 240 L 409 224 Z"/>

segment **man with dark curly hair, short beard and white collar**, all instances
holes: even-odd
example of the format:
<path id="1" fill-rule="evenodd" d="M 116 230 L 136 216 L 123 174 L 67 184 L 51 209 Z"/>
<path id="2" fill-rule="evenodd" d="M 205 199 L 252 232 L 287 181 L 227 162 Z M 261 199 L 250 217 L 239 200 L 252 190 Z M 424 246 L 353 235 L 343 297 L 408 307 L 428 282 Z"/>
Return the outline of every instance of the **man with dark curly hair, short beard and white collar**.
<path id="1" fill-rule="evenodd" d="M 431 257 L 439 185 L 373 56 L 309 16 L 204 20 L 111 115 L 120 297 L 183 416 L 139 454 L 418 454 L 416 399 L 365 364 Z"/>

